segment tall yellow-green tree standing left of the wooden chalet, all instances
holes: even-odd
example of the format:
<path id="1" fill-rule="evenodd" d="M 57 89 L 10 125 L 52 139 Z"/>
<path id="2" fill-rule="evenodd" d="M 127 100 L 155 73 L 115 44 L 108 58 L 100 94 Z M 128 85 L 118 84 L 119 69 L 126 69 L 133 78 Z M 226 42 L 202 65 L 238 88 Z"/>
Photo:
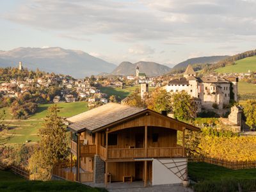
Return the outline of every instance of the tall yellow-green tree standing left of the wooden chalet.
<path id="1" fill-rule="evenodd" d="M 48 109 L 38 150 L 29 159 L 29 168 L 36 179 L 49 180 L 52 168 L 68 156 L 68 136 L 63 120 L 58 116 L 60 109 L 53 105 Z"/>

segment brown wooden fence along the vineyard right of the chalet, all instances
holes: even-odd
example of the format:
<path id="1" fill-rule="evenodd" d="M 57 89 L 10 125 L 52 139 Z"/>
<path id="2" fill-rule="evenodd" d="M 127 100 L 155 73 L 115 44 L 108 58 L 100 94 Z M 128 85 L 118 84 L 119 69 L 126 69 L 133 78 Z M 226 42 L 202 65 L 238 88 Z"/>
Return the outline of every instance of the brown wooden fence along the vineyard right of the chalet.
<path id="1" fill-rule="evenodd" d="M 232 170 L 256 168 L 256 161 L 227 161 L 223 159 L 214 159 L 209 157 L 189 158 L 188 161 L 216 164 Z"/>

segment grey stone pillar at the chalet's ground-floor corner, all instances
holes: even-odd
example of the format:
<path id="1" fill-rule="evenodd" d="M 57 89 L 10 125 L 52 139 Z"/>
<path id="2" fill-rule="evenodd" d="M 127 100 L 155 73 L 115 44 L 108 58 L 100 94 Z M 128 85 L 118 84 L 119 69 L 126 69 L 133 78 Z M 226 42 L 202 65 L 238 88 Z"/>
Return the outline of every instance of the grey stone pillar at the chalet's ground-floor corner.
<path id="1" fill-rule="evenodd" d="M 95 184 L 104 183 L 105 181 L 105 162 L 99 156 L 94 156 L 93 182 Z"/>

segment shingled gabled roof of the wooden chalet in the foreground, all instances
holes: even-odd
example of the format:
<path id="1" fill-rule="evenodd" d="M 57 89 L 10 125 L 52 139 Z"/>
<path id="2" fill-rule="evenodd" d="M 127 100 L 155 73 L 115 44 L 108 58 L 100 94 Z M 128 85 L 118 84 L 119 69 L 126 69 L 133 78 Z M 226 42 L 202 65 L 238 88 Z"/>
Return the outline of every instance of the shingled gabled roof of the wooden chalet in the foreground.
<path id="1" fill-rule="evenodd" d="M 152 115 L 157 115 L 162 118 L 166 118 L 172 122 L 176 122 L 186 129 L 192 131 L 200 131 L 198 127 L 193 125 L 180 122 L 168 116 L 161 115 L 150 109 L 145 108 L 134 108 L 131 106 L 125 106 L 122 104 L 108 103 L 98 108 L 94 108 L 90 111 L 86 111 L 76 116 L 67 118 L 67 121 L 70 123 L 68 127 L 76 132 L 97 132 L 101 129 L 106 129 L 108 127 L 120 124 L 122 122 L 131 120 L 141 115 L 147 115 L 150 113 Z"/>

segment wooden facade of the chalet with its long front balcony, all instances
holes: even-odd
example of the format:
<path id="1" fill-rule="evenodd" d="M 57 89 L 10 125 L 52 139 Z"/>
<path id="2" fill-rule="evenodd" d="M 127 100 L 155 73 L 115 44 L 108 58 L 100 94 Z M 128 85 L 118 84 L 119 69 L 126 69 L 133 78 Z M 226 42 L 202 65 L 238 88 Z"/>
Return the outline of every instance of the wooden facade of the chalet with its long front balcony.
<path id="1" fill-rule="evenodd" d="M 186 129 L 198 131 L 192 125 L 147 109 L 100 129 L 74 131 L 72 138 L 77 141 L 72 140 L 70 147 L 78 159 L 77 175 L 80 168 L 92 173 L 93 157 L 98 155 L 105 162 L 106 185 L 108 175 L 111 182 L 130 175 L 135 180 L 144 180 L 147 186 L 152 182 L 152 158 L 185 157 Z M 183 132 L 182 146 L 177 145 L 177 131 Z"/>

